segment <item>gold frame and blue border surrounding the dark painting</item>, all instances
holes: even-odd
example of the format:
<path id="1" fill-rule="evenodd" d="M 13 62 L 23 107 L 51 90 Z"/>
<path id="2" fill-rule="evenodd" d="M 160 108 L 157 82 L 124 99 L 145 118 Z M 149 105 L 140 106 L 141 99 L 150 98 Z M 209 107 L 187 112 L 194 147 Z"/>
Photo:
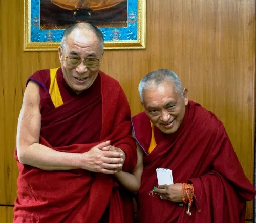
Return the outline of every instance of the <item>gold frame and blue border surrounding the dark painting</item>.
<path id="1" fill-rule="evenodd" d="M 24 1 L 24 51 L 56 51 L 64 29 L 40 30 L 39 5 L 39 0 Z M 146 0 L 127 0 L 126 27 L 99 29 L 104 37 L 104 49 L 145 49 Z"/>

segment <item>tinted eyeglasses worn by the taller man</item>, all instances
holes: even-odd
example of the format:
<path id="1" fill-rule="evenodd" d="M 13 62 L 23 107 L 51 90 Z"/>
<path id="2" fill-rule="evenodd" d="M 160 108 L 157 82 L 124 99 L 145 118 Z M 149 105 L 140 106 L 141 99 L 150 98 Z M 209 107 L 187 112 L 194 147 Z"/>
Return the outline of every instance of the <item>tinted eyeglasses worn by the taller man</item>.
<path id="1" fill-rule="evenodd" d="M 87 68 L 96 68 L 99 66 L 99 59 L 97 58 L 82 59 L 80 57 L 67 56 L 65 60 L 67 61 L 68 66 L 71 66 L 71 67 L 78 66 L 82 60 L 84 65 L 86 65 Z"/>

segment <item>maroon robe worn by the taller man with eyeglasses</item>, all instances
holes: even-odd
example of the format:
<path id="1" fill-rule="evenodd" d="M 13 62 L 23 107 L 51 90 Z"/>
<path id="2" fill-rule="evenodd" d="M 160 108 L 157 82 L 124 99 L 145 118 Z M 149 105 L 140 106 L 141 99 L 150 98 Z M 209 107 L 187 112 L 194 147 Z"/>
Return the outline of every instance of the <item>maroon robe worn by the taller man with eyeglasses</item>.
<path id="1" fill-rule="evenodd" d="M 130 108 L 120 84 L 99 72 L 97 81 L 87 92 L 77 97 L 64 96 L 65 104 L 55 108 L 48 93 L 49 80 L 46 77 L 49 77 L 49 71 L 38 72 L 29 80 L 36 81 L 42 87 L 40 144 L 57 151 L 83 153 L 102 141 L 110 140 L 112 145 L 126 154 L 124 171 L 132 171 L 137 162 L 137 153 L 131 136 Z M 96 92 L 98 86 L 101 94 Z M 63 96 L 63 88 L 59 88 Z M 96 96 L 91 97 L 93 94 Z M 96 128 L 91 123 L 95 119 L 92 113 L 95 106 L 92 105 L 101 105 L 102 108 L 96 109 L 97 113 L 102 112 L 101 117 L 97 117 L 100 120 L 96 121 Z M 100 130 L 98 125 L 101 126 Z M 92 142 L 88 141 L 90 130 L 96 134 Z M 100 132 L 98 141 L 97 131 Z M 123 192 L 124 189 L 112 175 L 83 169 L 45 171 L 20 164 L 16 151 L 15 157 L 19 177 L 14 222 L 93 223 L 102 218 L 105 210 L 108 210 L 105 222 L 132 222 L 132 198 L 129 193 Z"/>

